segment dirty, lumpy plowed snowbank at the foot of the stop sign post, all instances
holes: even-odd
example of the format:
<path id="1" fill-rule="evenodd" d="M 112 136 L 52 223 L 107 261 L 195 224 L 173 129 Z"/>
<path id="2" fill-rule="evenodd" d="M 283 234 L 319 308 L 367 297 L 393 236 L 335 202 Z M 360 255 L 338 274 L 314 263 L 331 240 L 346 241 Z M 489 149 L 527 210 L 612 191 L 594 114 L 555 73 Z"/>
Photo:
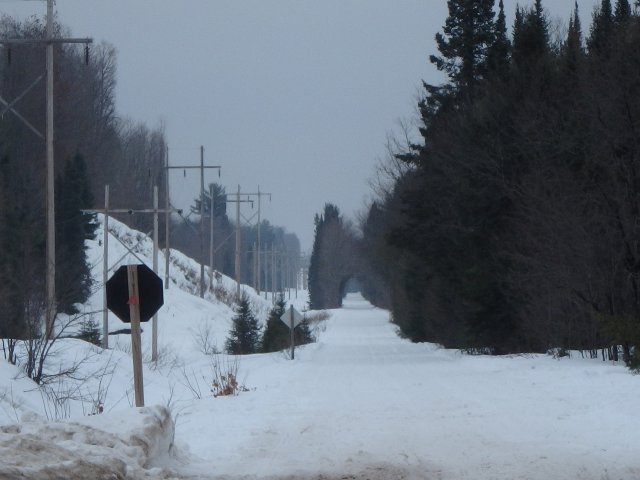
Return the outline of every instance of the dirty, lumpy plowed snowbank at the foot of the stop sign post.
<path id="1" fill-rule="evenodd" d="M 163 407 L 74 421 L 27 418 L 0 427 L 0 479 L 172 478 L 154 462 L 169 455 L 173 436 L 173 421 Z"/>

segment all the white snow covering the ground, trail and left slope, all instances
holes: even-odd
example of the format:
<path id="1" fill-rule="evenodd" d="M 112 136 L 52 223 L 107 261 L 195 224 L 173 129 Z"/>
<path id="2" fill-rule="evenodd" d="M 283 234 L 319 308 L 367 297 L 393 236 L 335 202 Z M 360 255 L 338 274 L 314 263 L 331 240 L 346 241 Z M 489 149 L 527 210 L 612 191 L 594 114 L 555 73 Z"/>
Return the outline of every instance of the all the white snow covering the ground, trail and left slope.
<path id="1" fill-rule="evenodd" d="M 141 239 L 137 254 L 150 265 L 150 242 L 112 222 L 110 256 L 137 262 L 115 236 Z M 101 278 L 97 242 L 89 253 Z M 146 407 L 132 406 L 126 335 L 110 337 L 107 351 L 61 341 L 51 369 L 78 365 L 78 378 L 44 393 L 0 362 L 0 479 L 640 478 L 640 377 L 620 364 L 414 344 L 358 295 L 328 312 L 318 341 L 293 361 L 286 352 L 206 355 L 203 339 L 220 350 L 233 311 L 192 294 L 198 273 L 172 253 L 157 364 L 143 325 Z M 264 320 L 270 301 L 244 289 Z M 101 305 L 97 291 L 85 308 Z M 110 316 L 110 330 L 123 327 Z M 243 391 L 215 397 L 216 365 L 237 368 Z M 70 399 L 56 406 L 60 397 Z M 99 404 L 104 413 L 91 415 Z"/>

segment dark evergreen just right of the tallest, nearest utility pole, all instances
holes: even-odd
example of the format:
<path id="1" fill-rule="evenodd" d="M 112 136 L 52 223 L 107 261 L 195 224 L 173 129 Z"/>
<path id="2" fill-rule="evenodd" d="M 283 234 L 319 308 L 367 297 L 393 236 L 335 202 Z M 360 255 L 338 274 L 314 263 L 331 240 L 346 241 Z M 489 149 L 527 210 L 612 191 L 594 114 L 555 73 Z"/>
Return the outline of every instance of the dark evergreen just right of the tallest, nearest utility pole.
<path id="1" fill-rule="evenodd" d="M 74 155 L 58 175 L 56 189 L 56 297 L 58 310 L 77 313 L 91 293 L 91 271 L 85 240 L 95 238 L 95 215 L 82 209 L 93 206 L 84 158 Z"/>

